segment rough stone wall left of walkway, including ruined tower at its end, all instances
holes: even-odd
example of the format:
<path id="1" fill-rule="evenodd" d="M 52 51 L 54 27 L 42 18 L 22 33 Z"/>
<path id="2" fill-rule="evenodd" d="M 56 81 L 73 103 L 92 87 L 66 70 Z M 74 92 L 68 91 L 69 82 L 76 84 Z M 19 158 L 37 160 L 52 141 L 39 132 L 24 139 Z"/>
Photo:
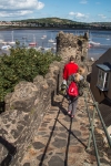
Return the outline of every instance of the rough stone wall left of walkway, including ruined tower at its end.
<path id="1" fill-rule="evenodd" d="M 72 34 L 60 32 L 57 37 L 57 50 L 62 61 L 53 62 L 44 77 L 38 75 L 33 82 L 20 82 L 14 92 L 6 96 L 6 112 L 0 115 L 0 136 L 17 147 L 12 166 L 19 166 L 40 122 L 53 104 L 54 95 L 58 94 L 62 82 L 63 65 L 70 55 L 75 56 L 77 62 L 81 62 L 81 56 L 87 53 L 85 46 L 85 38 L 80 40 Z M 12 146 L 0 145 L 0 163 L 8 153 L 7 149 L 10 151 Z"/>

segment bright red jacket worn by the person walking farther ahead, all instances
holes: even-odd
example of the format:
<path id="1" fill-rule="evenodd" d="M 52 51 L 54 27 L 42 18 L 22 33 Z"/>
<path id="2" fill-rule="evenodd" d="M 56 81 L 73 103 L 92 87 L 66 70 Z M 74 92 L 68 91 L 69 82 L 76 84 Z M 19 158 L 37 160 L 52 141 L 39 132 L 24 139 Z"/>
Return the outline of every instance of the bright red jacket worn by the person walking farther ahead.
<path id="1" fill-rule="evenodd" d="M 64 69 L 63 69 L 63 80 L 68 80 L 68 77 L 71 74 L 77 73 L 78 69 L 79 69 L 79 66 L 77 63 L 69 62 L 68 64 L 65 64 Z"/>

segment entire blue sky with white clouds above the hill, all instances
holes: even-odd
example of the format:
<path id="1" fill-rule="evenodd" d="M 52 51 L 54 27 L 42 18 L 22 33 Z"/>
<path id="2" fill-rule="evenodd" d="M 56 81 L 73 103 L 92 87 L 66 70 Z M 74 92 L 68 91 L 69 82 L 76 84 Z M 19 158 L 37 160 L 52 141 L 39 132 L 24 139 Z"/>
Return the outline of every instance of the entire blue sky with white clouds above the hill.
<path id="1" fill-rule="evenodd" d="M 111 22 L 111 0 L 0 0 L 0 21 L 52 17 Z"/>

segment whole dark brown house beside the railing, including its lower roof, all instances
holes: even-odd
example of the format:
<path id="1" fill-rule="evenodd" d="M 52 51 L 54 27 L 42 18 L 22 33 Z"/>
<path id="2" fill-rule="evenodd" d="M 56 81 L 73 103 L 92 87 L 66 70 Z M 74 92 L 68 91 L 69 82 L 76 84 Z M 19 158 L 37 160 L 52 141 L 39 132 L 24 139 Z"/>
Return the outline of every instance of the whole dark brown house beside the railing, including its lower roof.
<path id="1" fill-rule="evenodd" d="M 111 127 L 111 49 L 92 64 L 90 87 L 105 126 Z"/>

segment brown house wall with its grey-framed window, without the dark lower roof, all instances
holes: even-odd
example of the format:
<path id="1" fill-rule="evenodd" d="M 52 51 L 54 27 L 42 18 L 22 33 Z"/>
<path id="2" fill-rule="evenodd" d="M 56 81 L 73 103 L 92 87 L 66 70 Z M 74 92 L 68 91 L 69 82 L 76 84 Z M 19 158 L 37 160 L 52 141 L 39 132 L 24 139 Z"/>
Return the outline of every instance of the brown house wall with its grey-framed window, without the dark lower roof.
<path id="1" fill-rule="evenodd" d="M 111 100 L 111 49 L 92 64 L 90 87 L 97 102 Z"/>

